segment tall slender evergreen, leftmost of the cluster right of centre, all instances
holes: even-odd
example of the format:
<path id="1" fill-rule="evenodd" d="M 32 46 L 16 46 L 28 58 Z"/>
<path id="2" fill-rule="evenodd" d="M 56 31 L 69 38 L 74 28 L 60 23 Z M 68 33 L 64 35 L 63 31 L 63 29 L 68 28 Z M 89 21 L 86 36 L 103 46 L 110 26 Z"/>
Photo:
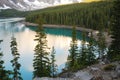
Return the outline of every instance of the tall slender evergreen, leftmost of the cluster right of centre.
<path id="1" fill-rule="evenodd" d="M 76 66 L 77 56 L 78 56 L 78 47 L 77 47 L 77 39 L 76 39 L 76 27 L 73 26 L 72 29 L 72 41 L 70 43 L 70 55 L 68 56 L 67 68 L 73 69 Z"/>

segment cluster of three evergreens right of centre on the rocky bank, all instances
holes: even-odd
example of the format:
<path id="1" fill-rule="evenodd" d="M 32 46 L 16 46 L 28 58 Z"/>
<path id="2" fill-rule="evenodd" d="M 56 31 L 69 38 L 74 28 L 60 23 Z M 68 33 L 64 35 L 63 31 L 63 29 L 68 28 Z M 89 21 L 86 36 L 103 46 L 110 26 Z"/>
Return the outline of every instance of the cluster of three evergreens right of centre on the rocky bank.
<path id="1" fill-rule="evenodd" d="M 83 69 L 87 66 L 95 64 L 96 60 L 96 46 L 94 43 L 94 39 L 91 33 L 91 38 L 88 40 L 88 44 L 86 44 L 86 33 L 83 32 L 83 40 L 80 50 L 78 51 L 77 40 L 75 36 L 75 28 L 73 27 L 73 36 L 72 36 L 72 46 L 70 46 L 70 55 L 68 55 L 68 60 L 66 63 L 67 70 L 76 71 L 78 69 Z"/>

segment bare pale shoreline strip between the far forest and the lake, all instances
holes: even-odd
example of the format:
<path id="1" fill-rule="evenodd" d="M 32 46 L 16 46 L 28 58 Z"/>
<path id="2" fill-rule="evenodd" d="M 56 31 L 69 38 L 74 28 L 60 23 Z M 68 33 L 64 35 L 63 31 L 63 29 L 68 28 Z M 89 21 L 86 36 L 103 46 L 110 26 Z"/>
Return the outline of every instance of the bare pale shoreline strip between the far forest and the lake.
<path id="1" fill-rule="evenodd" d="M 30 22 L 24 22 L 24 24 L 26 26 L 38 26 L 38 24 L 35 23 L 30 23 Z M 66 28 L 66 29 L 72 29 L 72 26 L 69 25 L 56 25 L 56 24 L 43 24 L 43 27 L 46 28 Z M 84 27 L 78 27 L 76 26 L 76 30 L 78 31 L 84 31 L 84 32 L 88 32 L 88 37 L 90 37 L 90 33 L 92 32 L 93 38 L 98 41 L 98 30 L 93 30 L 93 29 L 88 29 L 88 28 L 84 28 Z M 109 47 L 112 41 L 111 35 L 109 35 L 107 32 L 104 32 L 104 36 L 105 36 L 105 41 L 106 41 L 106 46 Z"/>

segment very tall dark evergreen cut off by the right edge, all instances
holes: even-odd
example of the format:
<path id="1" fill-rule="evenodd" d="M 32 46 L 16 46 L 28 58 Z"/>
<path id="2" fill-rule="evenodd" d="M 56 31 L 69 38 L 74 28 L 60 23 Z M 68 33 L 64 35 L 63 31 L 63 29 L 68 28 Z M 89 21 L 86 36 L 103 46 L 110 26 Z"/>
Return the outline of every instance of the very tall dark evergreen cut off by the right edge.
<path id="1" fill-rule="evenodd" d="M 114 0 L 112 14 L 111 35 L 113 40 L 109 47 L 108 58 L 110 60 L 120 60 L 120 0 Z"/>

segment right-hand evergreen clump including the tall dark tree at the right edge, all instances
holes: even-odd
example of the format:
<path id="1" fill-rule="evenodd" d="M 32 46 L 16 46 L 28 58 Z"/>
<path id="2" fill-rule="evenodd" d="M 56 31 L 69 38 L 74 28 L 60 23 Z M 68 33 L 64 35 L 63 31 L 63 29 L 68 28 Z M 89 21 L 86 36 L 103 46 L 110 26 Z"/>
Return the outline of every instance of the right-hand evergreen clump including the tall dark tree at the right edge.
<path id="1" fill-rule="evenodd" d="M 107 51 L 105 46 L 105 40 L 104 35 L 102 32 L 102 29 L 100 30 L 100 33 L 98 34 L 99 38 L 97 41 L 97 44 L 95 44 L 95 41 L 93 39 L 93 35 L 91 35 L 91 38 L 89 39 L 89 44 L 85 44 L 85 35 L 83 35 L 82 39 L 82 46 L 81 49 L 78 50 L 75 48 L 76 43 L 74 42 L 74 38 L 76 36 L 72 36 L 72 45 L 70 46 L 70 55 L 68 56 L 67 60 L 67 70 L 75 70 L 75 69 L 81 69 L 84 67 L 87 67 L 89 65 L 95 64 L 98 61 L 103 61 L 105 63 L 109 63 L 109 61 L 120 61 L 120 0 L 115 0 L 113 5 L 113 11 L 112 11 L 112 43 L 109 50 Z M 74 32 L 75 35 L 76 33 Z M 84 34 L 84 33 L 83 33 Z M 77 49 L 77 50 L 76 50 Z M 77 52 L 75 52 L 77 51 Z M 98 54 L 98 58 L 96 57 L 96 53 Z M 71 57 L 72 56 L 72 57 Z"/>

